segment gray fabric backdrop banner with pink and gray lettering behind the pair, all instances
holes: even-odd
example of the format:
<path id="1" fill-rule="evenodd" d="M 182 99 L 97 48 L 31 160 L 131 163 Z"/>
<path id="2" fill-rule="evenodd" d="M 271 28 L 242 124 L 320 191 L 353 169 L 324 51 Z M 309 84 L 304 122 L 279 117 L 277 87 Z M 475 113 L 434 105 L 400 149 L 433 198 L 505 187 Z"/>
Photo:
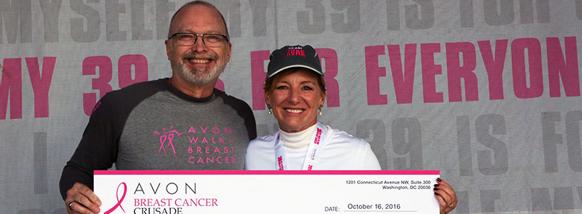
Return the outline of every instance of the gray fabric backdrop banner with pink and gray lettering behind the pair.
<path id="1" fill-rule="evenodd" d="M 582 212 L 582 0 L 228 0 L 217 88 L 266 113 L 269 54 L 311 44 L 321 123 L 383 169 L 440 170 L 452 213 Z M 66 213 L 62 168 L 101 96 L 171 76 L 186 1 L 0 0 L 0 210 Z"/>

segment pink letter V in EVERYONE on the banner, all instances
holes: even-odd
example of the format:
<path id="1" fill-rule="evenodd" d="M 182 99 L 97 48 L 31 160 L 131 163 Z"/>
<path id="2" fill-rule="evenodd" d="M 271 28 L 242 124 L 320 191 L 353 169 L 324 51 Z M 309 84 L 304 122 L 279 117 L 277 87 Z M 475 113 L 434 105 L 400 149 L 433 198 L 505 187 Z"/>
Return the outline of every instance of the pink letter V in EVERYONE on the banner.
<path id="1" fill-rule="evenodd" d="M 416 44 L 404 45 L 404 69 L 399 45 L 388 45 L 388 58 L 392 70 L 392 81 L 396 103 L 412 103 L 414 68 L 416 66 Z"/>

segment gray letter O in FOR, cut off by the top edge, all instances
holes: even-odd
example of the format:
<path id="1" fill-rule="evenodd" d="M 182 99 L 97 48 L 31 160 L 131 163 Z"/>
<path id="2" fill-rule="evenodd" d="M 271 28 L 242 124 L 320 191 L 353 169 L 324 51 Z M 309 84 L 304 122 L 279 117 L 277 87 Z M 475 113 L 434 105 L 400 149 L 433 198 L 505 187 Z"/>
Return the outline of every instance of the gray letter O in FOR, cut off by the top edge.
<path id="1" fill-rule="evenodd" d="M 513 0 L 483 0 L 485 22 L 491 26 L 513 23 Z"/>

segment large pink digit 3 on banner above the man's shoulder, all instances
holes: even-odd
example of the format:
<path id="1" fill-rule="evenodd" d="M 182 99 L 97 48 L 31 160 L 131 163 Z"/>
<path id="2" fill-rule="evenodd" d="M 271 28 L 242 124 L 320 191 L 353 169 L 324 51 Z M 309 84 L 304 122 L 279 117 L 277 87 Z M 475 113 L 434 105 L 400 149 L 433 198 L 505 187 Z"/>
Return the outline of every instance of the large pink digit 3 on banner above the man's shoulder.
<path id="1" fill-rule="evenodd" d="M 98 90 L 99 98 L 101 98 L 105 93 L 113 90 L 109 85 L 113 76 L 111 59 L 107 56 L 89 56 L 85 58 L 83 61 L 83 76 L 96 75 L 97 68 L 99 68 L 99 76 L 91 81 L 91 89 Z M 86 116 L 91 116 L 97 100 L 96 93 L 83 93 L 83 109 Z"/>

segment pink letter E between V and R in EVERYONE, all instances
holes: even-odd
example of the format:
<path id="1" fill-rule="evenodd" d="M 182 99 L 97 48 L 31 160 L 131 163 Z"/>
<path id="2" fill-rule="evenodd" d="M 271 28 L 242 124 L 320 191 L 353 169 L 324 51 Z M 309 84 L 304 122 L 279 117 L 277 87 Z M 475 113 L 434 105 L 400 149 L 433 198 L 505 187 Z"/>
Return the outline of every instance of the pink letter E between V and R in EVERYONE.
<path id="1" fill-rule="evenodd" d="M 441 65 L 434 63 L 434 54 L 441 52 L 441 44 L 421 44 L 422 94 L 425 103 L 442 103 L 443 93 L 436 91 L 436 75 L 442 73 Z"/>

